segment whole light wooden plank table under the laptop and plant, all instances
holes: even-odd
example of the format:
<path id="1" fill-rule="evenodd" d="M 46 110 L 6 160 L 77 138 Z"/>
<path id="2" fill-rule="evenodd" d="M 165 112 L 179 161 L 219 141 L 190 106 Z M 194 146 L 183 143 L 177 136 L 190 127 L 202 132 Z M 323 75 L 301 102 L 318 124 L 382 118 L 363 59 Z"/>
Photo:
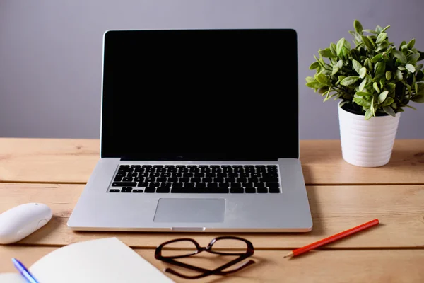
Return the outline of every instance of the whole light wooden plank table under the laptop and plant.
<path id="1" fill-rule="evenodd" d="M 313 231 L 238 235 L 254 244 L 257 264 L 228 277 L 196 281 L 424 282 L 424 140 L 396 140 L 390 163 L 381 168 L 346 163 L 336 140 L 301 141 L 300 155 Z M 218 235 L 71 231 L 66 221 L 98 158 L 98 139 L 0 139 L 0 212 L 26 202 L 43 202 L 54 213 L 39 231 L 19 243 L 0 246 L 0 272 L 15 272 L 11 257 L 32 265 L 61 246 L 109 236 L 163 270 L 166 265 L 153 256 L 158 244 L 191 236 L 206 245 Z M 375 218 L 379 226 L 298 258 L 283 259 L 288 250 Z M 222 259 L 206 255 L 193 260 L 213 267 Z"/>

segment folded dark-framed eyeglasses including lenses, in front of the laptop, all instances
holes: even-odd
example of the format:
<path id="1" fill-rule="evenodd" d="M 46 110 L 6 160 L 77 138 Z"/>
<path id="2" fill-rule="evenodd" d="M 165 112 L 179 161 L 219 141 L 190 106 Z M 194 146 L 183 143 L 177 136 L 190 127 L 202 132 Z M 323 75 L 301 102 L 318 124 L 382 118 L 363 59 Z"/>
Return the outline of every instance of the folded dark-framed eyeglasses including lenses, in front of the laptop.
<path id="1" fill-rule="evenodd" d="M 217 248 L 214 248 L 214 246 L 218 246 L 216 243 L 224 243 L 224 241 L 228 241 L 228 240 L 232 240 L 232 241 L 237 241 L 237 244 L 241 244 L 242 245 L 242 250 L 240 252 L 227 252 L 224 250 L 218 250 Z M 184 253 L 184 254 L 180 254 L 180 255 L 174 255 L 174 254 L 169 254 L 166 251 L 164 252 L 164 248 L 167 249 L 172 249 L 172 244 L 175 243 L 184 243 L 186 245 L 190 245 L 195 247 L 196 249 L 193 252 L 189 252 L 189 253 Z M 186 246 L 184 245 L 184 246 Z M 231 260 L 230 262 L 226 263 L 225 265 L 222 265 L 214 270 L 208 270 L 206 268 L 201 268 L 201 267 L 196 267 L 193 265 L 189 265 L 187 263 L 184 262 L 179 262 L 175 259 L 177 258 L 187 258 L 190 257 L 192 255 L 196 255 L 198 253 L 201 253 L 203 251 L 206 251 L 208 253 L 213 253 L 216 255 L 232 255 L 232 256 L 238 256 L 238 258 L 235 258 L 234 260 Z M 164 253 L 166 255 L 164 255 Z M 221 236 L 221 237 L 217 237 L 214 238 L 209 244 L 208 246 L 201 247 L 199 245 L 199 243 L 197 243 L 194 239 L 192 238 L 177 238 L 171 241 L 167 241 L 163 244 L 161 244 L 160 246 L 158 246 L 158 248 L 156 248 L 155 250 L 155 258 L 157 260 L 161 260 L 163 262 L 167 262 L 170 263 L 172 265 L 177 265 L 179 267 L 184 267 L 187 268 L 189 270 L 195 270 L 197 272 L 201 272 L 201 275 L 193 275 L 193 276 L 189 276 L 189 275 L 182 275 L 181 273 L 172 270 L 172 268 L 165 268 L 165 272 L 170 272 L 173 275 L 177 275 L 179 277 L 182 277 L 184 279 L 198 279 L 198 278 L 202 278 L 202 277 L 206 277 L 209 275 L 228 275 L 234 272 L 237 272 L 239 270 L 244 269 L 245 267 L 248 267 L 249 265 L 254 264 L 253 260 L 249 260 L 247 262 L 242 263 L 242 265 L 233 268 L 232 270 L 227 270 L 227 271 L 223 271 L 225 269 L 227 269 L 228 267 L 231 267 L 232 265 L 237 264 L 238 262 L 241 262 L 242 260 L 245 260 L 246 258 L 249 258 L 249 256 L 253 255 L 254 253 L 254 248 L 253 245 L 250 241 L 247 241 L 244 238 L 238 238 L 235 236 Z"/>

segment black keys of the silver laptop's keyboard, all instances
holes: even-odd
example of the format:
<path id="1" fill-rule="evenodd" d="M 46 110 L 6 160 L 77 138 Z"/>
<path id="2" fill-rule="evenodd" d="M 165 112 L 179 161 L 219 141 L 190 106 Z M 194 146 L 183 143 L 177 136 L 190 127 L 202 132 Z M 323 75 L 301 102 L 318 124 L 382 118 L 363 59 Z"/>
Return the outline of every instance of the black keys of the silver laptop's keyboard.
<path id="1" fill-rule="evenodd" d="M 276 165 L 121 165 L 109 192 L 280 192 Z"/>

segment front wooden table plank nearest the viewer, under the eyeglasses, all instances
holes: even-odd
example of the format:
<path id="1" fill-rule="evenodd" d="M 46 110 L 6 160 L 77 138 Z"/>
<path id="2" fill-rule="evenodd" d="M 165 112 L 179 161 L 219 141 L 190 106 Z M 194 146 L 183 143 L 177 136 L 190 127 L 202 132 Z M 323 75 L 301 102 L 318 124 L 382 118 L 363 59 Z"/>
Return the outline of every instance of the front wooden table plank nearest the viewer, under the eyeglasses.
<path id="1" fill-rule="evenodd" d="M 16 272 L 11 258 L 25 265 L 52 252 L 57 247 L 0 246 L 0 272 Z M 153 249 L 135 249 L 159 270 L 172 267 L 154 258 Z M 284 250 L 257 250 L 255 264 L 233 275 L 213 275 L 204 279 L 185 280 L 169 275 L 175 282 L 284 282 L 284 283 L 420 283 L 424 282 L 424 250 L 315 250 L 288 260 Z M 232 259 L 232 258 L 231 258 Z M 228 262 L 227 257 L 201 253 L 189 260 L 192 265 L 213 268 Z M 176 267 L 187 275 L 196 273 Z"/>

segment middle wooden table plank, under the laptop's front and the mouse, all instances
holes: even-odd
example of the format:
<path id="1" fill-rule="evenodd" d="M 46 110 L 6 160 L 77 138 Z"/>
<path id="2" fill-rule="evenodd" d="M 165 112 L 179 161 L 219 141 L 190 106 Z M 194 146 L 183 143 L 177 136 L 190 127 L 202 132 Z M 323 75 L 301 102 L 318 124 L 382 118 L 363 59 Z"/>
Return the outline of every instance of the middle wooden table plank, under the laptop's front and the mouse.
<path id="1" fill-rule="evenodd" d="M 171 238 L 191 236 L 206 244 L 216 233 L 74 232 L 66 226 L 83 185 L 0 183 L 0 211 L 26 202 L 43 202 L 54 217 L 20 243 L 66 245 L 118 235 L 131 247 L 153 247 Z M 247 233 L 255 248 L 295 248 L 351 229 L 372 219 L 378 226 L 327 247 L 424 248 L 424 185 L 308 186 L 314 222 L 310 233 Z M 223 233 L 219 233 L 222 235 Z"/>

